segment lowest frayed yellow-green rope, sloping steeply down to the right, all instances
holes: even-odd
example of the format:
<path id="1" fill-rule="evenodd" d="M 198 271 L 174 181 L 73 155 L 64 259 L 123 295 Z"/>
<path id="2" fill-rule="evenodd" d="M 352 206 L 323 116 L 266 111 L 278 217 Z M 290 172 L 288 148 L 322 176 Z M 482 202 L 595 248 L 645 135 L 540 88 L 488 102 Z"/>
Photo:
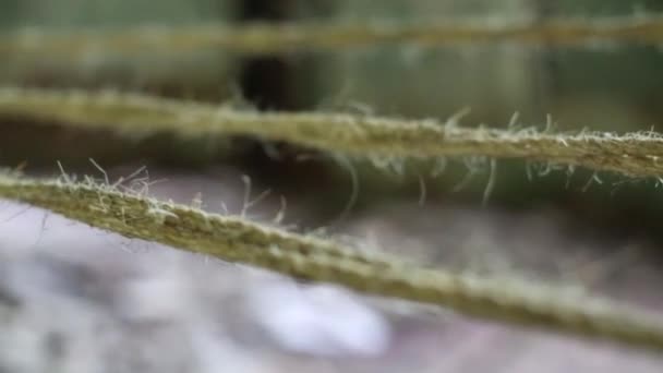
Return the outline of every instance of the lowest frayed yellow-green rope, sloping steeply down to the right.
<path id="1" fill-rule="evenodd" d="M 663 324 L 598 299 L 543 286 L 424 269 L 378 253 L 263 227 L 189 206 L 121 193 L 94 182 L 0 176 L 0 196 L 50 209 L 130 238 L 267 268 L 357 291 L 425 302 L 515 325 L 663 349 Z M 345 254 L 350 253 L 350 254 Z"/>

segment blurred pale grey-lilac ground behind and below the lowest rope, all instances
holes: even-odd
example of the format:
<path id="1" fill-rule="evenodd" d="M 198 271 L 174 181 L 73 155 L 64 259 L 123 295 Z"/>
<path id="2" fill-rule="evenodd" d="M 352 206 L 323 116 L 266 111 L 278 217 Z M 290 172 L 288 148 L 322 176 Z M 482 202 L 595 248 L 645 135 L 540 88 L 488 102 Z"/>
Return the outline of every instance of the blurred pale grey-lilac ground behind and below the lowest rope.
<path id="1" fill-rule="evenodd" d="M 122 171 L 123 172 L 123 171 Z M 239 212 L 239 173 L 169 175 L 152 193 Z M 219 181 L 221 180 L 221 181 Z M 255 193 L 257 194 L 258 191 Z M 268 219 L 267 198 L 249 213 Z M 305 218 L 289 201 L 288 220 Z M 387 205 L 339 228 L 421 261 L 566 284 L 659 309 L 650 243 L 554 212 Z M 600 250 L 599 250 L 600 249 Z M 407 252 L 403 252 L 407 250 Z M 663 359 L 294 284 L 0 203 L 0 372 L 661 372 Z"/>

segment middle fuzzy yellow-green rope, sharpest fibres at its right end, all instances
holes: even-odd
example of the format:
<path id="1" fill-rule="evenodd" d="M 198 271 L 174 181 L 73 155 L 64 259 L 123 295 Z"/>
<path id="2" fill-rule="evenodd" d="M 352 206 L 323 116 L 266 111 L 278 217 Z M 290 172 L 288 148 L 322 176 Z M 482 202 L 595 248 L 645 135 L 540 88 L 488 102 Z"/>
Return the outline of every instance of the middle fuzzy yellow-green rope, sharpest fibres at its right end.
<path id="1" fill-rule="evenodd" d="M 112 92 L 0 88 L 0 115 L 56 120 L 128 135 L 254 135 L 358 156 L 527 158 L 634 177 L 663 176 L 663 137 L 653 132 L 552 134 L 458 128 L 455 121 L 327 113 L 237 111 Z"/>

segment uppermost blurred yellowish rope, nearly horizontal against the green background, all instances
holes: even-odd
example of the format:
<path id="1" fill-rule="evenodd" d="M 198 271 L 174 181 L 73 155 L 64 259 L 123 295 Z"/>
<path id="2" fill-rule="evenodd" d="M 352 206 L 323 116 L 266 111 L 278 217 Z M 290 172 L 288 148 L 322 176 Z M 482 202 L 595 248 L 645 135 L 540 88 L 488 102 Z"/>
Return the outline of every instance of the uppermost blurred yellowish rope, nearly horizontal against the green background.
<path id="1" fill-rule="evenodd" d="M 226 48 L 249 53 L 364 47 L 389 43 L 456 45 L 511 41 L 557 46 L 595 40 L 659 44 L 663 16 L 658 14 L 602 19 L 446 19 L 394 23 L 255 23 L 233 26 L 168 28 L 144 26 L 116 32 L 53 33 L 24 29 L 0 38 L 0 51 L 80 53 L 95 50 L 140 52 L 160 49 L 181 52 Z"/>

